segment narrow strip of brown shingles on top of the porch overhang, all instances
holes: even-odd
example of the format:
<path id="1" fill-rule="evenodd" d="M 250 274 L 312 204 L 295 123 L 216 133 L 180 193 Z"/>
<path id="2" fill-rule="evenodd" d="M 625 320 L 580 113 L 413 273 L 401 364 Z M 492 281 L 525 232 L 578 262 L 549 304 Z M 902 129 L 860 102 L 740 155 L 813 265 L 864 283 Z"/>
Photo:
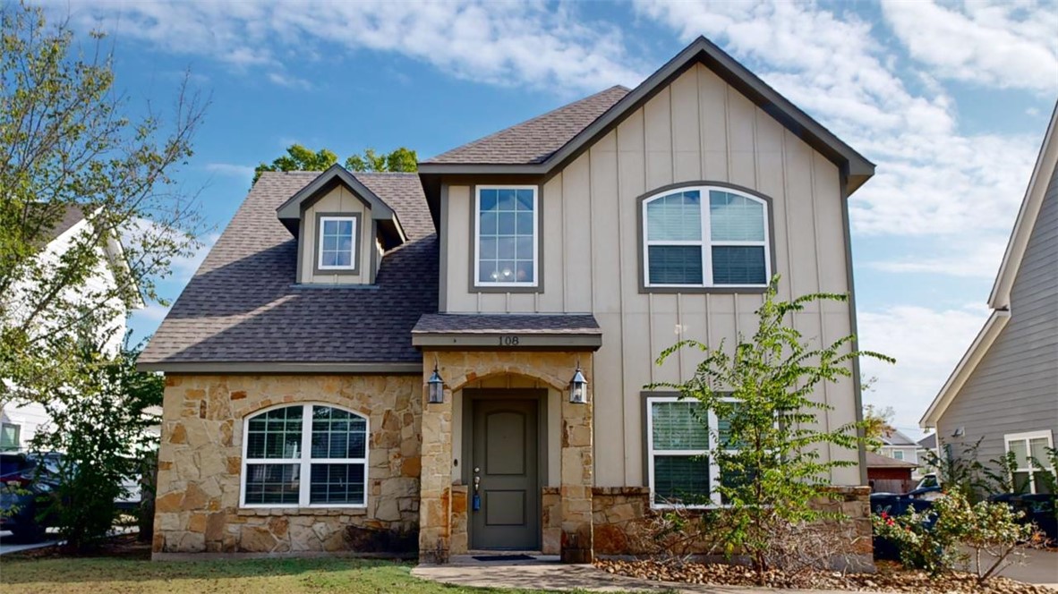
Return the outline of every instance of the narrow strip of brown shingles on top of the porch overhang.
<path id="1" fill-rule="evenodd" d="M 424 314 L 414 334 L 602 334 L 590 314 Z"/>

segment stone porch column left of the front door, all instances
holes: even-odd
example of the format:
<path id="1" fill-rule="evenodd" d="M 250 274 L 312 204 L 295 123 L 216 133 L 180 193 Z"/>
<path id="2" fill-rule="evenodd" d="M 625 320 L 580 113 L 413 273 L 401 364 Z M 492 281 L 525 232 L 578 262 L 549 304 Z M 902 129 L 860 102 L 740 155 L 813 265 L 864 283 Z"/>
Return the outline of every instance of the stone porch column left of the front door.
<path id="1" fill-rule="evenodd" d="M 422 476 L 419 502 L 419 561 L 448 561 L 452 534 L 452 392 L 444 402 L 430 404 L 426 380 L 434 356 L 422 357 Z M 441 370 L 444 377 L 444 370 Z"/>

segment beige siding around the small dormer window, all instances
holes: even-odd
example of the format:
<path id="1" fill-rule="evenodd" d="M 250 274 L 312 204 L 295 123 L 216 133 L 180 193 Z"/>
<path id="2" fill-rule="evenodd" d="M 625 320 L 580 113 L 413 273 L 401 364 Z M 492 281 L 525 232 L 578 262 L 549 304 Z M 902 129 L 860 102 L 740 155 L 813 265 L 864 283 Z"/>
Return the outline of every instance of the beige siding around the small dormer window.
<path id="1" fill-rule="evenodd" d="M 360 274 L 357 275 L 335 275 L 335 274 L 313 274 L 313 264 L 316 258 L 316 215 L 320 212 L 341 212 L 343 215 L 360 214 L 357 229 L 360 237 L 360 244 L 357 246 L 357 257 L 360 259 Z M 344 186 L 339 186 L 313 202 L 302 214 L 302 246 L 299 270 L 299 282 L 317 282 L 325 284 L 345 283 L 370 283 L 373 279 L 373 266 L 378 266 L 381 258 L 378 257 L 378 242 L 371 234 L 371 211 L 359 198 L 352 194 Z M 376 258 L 371 254 L 376 253 Z"/>

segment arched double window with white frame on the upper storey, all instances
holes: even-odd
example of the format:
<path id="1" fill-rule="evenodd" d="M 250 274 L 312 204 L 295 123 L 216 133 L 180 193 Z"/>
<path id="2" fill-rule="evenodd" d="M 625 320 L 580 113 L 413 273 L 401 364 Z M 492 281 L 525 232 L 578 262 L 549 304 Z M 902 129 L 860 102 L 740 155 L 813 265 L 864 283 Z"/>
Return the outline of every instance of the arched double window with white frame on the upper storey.
<path id="1" fill-rule="evenodd" d="M 771 276 L 768 203 L 717 186 L 643 201 L 643 286 L 760 287 Z"/>

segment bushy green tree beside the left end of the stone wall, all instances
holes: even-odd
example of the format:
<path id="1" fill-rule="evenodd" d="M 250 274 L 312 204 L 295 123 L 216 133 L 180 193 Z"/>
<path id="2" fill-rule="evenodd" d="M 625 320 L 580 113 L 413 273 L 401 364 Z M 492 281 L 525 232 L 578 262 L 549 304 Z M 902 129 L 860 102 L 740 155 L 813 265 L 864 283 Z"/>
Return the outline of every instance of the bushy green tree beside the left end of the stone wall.
<path id="1" fill-rule="evenodd" d="M 45 513 L 58 520 L 59 533 L 75 550 L 93 549 L 117 518 L 114 501 L 127 495 L 123 483 L 140 479 L 158 449 L 150 428 L 160 422 L 164 378 L 135 369 L 138 350 L 107 358 L 83 345 L 77 380 L 44 403 L 51 415 L 32 448 L 61 451 L 57 490 Z M 152 477 L 147 477 L 152 484 Z M 152 507 L 152 494 L 143 494 Z"/>

